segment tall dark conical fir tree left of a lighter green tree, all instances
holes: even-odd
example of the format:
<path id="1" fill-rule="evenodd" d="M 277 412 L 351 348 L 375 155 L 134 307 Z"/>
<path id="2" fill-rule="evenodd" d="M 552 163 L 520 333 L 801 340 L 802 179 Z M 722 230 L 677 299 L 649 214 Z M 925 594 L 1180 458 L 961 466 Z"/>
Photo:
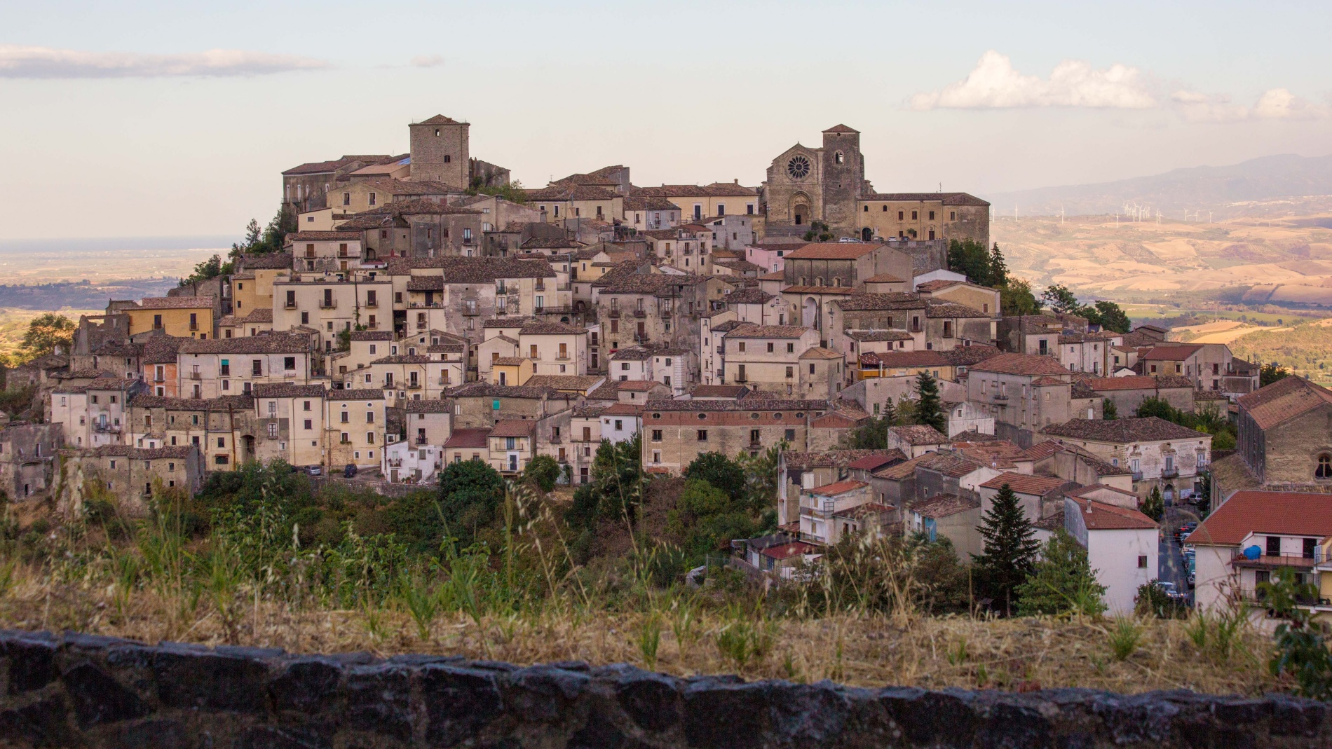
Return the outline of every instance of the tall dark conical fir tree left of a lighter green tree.
<path id="1" fill-rule="evenodd" d="M 1015 591 L 1027 580 L 1040 551 L 1036 531 L 1012 487 L 999 487 L 978 531 L 986 545 L 979 556 L 972 555 L 976 573 L 995 603 L 1003 601 L 1004 612 L 1012 612 Z"/>

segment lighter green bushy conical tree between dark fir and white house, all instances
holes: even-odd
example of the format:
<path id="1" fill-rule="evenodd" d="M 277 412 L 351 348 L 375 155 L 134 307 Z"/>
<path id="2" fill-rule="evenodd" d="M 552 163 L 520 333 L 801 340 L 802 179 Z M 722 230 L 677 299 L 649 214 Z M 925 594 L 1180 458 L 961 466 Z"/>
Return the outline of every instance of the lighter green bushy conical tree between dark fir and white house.
<path id="1" fill-rule="evenodd" d="M 1062 529 L 1050 536 L 1031 576 L 1015 592 L 1020 616 L 1099 616 L 1106 611 L 1100 600 L 1106 587 L 1096 581 L 1087 563 L 1087 549 Z"/>

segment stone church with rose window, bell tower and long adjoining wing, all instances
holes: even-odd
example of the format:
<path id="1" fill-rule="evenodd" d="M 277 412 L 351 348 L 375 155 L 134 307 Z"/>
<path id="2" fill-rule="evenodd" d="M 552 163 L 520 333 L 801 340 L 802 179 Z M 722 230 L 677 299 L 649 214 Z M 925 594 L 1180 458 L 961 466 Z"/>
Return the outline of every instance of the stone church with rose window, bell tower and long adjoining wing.
<path id="1" fill-rule="evenodd" d="M 975 239 L 990 243 L 990 204 L 968 193 L 875 193 L 864 178 L 860 133 L 823 130 L 823 145 L 795 144 L 773 160 L 762 188 L 771 238 L 802 238 L 813 222 L 834 238 Z"/>

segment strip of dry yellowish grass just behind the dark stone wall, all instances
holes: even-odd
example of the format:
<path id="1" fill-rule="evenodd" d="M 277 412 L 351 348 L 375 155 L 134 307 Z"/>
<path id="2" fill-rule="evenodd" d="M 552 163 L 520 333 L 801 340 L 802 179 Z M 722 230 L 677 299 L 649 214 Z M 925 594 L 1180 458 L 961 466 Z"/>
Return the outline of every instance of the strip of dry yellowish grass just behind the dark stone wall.
<path id="1" fill-rule="evenodd" d="M 434 619 L 429 636 L 421 637 L 402 605 L 301 611 L 253 600 L 242 588 L 236 597 L 240 620 L 228 637 L 206 595 L 164 597 L 137 591 L 117 605 L 113 587 L 43 580 L 25 569 L 16 571 L 13 584 L 0 599 L 0 627 L 77 629 L 148 643 L 218 645 L 232 639 L 241 645 L 292 652 L 444 653 L 517 664 L 631 663 L 679 676 L 832 678 L 860 686 L 1087 686 L 1130 693 L 1187 688 L 1240 694 L 1276 688 L 1264 668 L 1269 639 L 1244 632 L 1235 652 L 1220 657 L 1200 652 L 1189 640 L 1188 624 L 1171 620 L 1142 621 L 1142 641 L 1124 660 L 1112 653 L 1115 623 L 1108 620 L 844 615 L 765 623 L 698 605 L 697 597 L 678 593 L 663 593 L 651 612 L 642 613 L 579 608 L 567 600 L 511 616 L 482 615 L 480 623 L 448 613 Z M 727 628 L 729 639 L 721 636 Z M 658 632 L 659 645 L 653 648 L 649 643 Z M 730 647 L 731 655 L 723 655 L 719 640 L 734 645 L 737 633 L 741 640 L 749 637 L 749 649 Z M 738 653 L 745 663 L 737 661 Z"/>

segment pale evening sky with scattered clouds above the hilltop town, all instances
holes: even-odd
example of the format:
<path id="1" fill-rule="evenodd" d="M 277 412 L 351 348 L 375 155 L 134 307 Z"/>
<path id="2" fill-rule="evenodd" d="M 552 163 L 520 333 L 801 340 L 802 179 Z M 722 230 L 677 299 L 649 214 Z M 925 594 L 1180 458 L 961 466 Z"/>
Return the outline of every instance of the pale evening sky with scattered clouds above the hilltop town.
<path id="1" fill-rule="evenodd" d="M 0 4 L 0 241 L 238 234 L 281 177 L 472 124 L 526 186 L 758 185 L 862 132 L 879 192 L 1332 153 L 1332 4 Z"/>

